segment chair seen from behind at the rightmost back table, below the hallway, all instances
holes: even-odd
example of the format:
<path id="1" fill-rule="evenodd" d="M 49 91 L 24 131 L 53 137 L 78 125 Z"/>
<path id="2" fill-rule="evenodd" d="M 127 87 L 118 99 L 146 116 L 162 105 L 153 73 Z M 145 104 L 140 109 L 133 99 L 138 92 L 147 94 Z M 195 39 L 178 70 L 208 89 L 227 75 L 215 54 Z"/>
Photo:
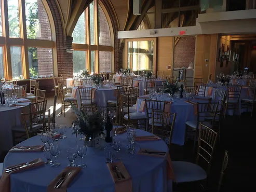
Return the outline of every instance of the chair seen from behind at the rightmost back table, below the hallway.
<path id="1" fill-rule="evenodd" d="M 238 115 L 240 118 L 240 94 L 242 86 L 227 86 L 227 100 L 225 102 L 226 108 L 224 112 L 224 117 L 228 109 L 235 110 L 238 109 Z"/>

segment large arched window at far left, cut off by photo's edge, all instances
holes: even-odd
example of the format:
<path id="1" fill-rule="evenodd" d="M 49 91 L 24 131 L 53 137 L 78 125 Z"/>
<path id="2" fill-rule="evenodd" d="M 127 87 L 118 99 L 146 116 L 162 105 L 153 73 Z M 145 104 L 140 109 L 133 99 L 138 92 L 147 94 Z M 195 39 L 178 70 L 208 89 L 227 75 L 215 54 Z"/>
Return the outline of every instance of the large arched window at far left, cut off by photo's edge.
<path id="1" fill-rule="evenodd" d="M 42 0 L 0 0 L 0 77 L 52 76 L 53 47 Z"/>

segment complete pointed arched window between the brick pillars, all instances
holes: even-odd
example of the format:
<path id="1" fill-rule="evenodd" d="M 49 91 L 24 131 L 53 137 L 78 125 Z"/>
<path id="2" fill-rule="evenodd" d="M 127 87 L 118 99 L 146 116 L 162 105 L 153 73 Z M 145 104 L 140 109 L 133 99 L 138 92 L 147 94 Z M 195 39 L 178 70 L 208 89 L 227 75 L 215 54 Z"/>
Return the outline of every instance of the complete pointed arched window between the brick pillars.
<path id="1" fill-rule="evenodd" d="M 97 3 L 98 2 L 98 3 Z M 73 73 L 111 71 L 111 32 L 104 7 L 93 1 L 79 17 L 73 31 Z"/>

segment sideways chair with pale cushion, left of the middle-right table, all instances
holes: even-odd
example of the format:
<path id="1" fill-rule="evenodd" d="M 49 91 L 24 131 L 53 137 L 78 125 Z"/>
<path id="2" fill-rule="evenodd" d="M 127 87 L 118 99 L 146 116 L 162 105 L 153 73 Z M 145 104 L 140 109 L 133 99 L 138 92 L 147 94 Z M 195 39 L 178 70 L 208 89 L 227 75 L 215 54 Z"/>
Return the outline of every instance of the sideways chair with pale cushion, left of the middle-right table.
<path id="1" fill-rule="evenodd" d="M 125 122 L 127 122 L 127 124 L 133 124 L 136 125 L 137 128 L 139 127 L 139 121 L 144 121 L 144 125 L 145 125 L 145 130 L 146 130 L 146 115 L 143 113 L 138 113 L 138 112 L 130 112 L 130 107 L 133 106 L 132 100 L 131 100 L 131 96 L 128 94 L 120 94 L 120 109 L 122 109 L 122 113 L 120 113 L 120 119 L 122 118 L 122 120 L 124 120 Z M 124 112 L 127 112 L 126 114 Z M 120 123 L 121 124 L 121 123 Z M 125 124 L 125 125 L 127 125 Z M 143 124 L 142 124 L 143 125 Z"/>

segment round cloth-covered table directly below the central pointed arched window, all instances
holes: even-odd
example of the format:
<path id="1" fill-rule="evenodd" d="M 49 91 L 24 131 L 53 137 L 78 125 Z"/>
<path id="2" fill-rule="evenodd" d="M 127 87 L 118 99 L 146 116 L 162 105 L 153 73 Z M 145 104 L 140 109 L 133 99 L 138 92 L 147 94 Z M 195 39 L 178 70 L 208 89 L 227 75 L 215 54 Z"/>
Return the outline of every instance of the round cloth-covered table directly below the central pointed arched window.
<path id="1" fill-rule="evenodd" d="M 75 95 L 74 95 L 74 92 L 75 92 Z M 79 96 L 79 91 L 77 87 L 73 87 L 72 95 L 73 97 L 75 96 L 77 100 L 78 108 L 80 108 L 80 96 Z M 95 100 L 96 100 L 97 106 L 105 107 L 107 100 L 116 100 L 116 88 L 115 87 L 112 87 L 112 88 L 99 87 L 95 91 Z"/>

